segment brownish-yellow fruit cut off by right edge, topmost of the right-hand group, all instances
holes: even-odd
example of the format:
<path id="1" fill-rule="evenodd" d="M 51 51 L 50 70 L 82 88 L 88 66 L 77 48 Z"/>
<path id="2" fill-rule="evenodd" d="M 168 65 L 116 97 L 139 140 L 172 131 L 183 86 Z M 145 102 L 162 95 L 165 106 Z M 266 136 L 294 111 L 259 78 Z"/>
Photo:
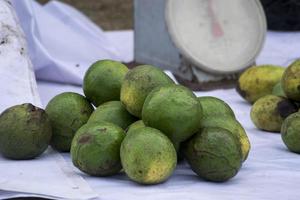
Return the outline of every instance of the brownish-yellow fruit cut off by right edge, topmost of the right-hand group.
<path id="1" fill-rule="evenodd" d="M 289 99 L 300 101 L 300 60 L 296 60 L 285 70 L 281 84 Z"/>

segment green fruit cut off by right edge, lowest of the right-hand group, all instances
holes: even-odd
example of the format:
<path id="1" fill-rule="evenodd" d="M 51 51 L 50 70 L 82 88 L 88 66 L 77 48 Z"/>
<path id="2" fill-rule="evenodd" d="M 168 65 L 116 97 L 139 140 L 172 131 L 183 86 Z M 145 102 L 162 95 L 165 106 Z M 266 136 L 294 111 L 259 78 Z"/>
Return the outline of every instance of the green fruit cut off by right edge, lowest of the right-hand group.
<path id="1" fill-rule="evenodd" d="M 281 138 L 290 151 L 300 153 L 300 112 L 291 114 L 284 120 Z"/>

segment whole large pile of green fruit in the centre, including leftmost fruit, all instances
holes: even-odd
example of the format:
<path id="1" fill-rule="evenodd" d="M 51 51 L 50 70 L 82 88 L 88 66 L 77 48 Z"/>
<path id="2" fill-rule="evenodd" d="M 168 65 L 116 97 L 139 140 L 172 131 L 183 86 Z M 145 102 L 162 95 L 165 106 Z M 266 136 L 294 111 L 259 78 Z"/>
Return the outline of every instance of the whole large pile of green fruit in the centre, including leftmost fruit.
<path id="1" fill-rule="evenodd" d="M 50 144 L 70 151 L 74 166 L 91 176 L 123 169 L 135 182 L 157 184 L 182 158 L 203 179 L 226 181 L 249 154 L 247 134 L 228 104 L 196 97 L 154 66 L 128 70 L 98 61 L 86 72 L 83 91 L 55 96 L 45 111 L 7 109 L 0 116 L 2 155 L 34 158 Z"/>

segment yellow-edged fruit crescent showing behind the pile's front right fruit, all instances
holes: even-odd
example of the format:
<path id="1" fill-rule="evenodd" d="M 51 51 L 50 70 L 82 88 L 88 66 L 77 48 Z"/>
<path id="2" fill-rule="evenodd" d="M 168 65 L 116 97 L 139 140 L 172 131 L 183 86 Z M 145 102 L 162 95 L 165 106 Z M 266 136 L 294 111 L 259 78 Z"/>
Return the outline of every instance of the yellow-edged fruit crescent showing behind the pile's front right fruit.
<path id="1" fill-rule="evenodd" d="M 247 133 L 243 126 L 233 118 L 228 117 L 211 117 L 204 118 L 201 121 L 202 128 L 222 128 L 228 130 L 232 135 L 234 135 L 239 143 L 242 151 L 243 161 L 245 161 L 249 155 L 251 144 L 247 136 Z"/>

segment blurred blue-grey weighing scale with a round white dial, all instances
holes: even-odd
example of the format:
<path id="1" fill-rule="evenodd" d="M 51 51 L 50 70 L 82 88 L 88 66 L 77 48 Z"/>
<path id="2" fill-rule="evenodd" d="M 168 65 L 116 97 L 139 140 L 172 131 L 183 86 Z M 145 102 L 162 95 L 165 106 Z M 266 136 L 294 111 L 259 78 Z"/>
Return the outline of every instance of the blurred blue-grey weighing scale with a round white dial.
<path id="1" fill-rule="evenodd" d="M 255 63 L 266 30 L 259 0 L 136 0 L 135 61 L 196 90 L 230 87 Z"/>

